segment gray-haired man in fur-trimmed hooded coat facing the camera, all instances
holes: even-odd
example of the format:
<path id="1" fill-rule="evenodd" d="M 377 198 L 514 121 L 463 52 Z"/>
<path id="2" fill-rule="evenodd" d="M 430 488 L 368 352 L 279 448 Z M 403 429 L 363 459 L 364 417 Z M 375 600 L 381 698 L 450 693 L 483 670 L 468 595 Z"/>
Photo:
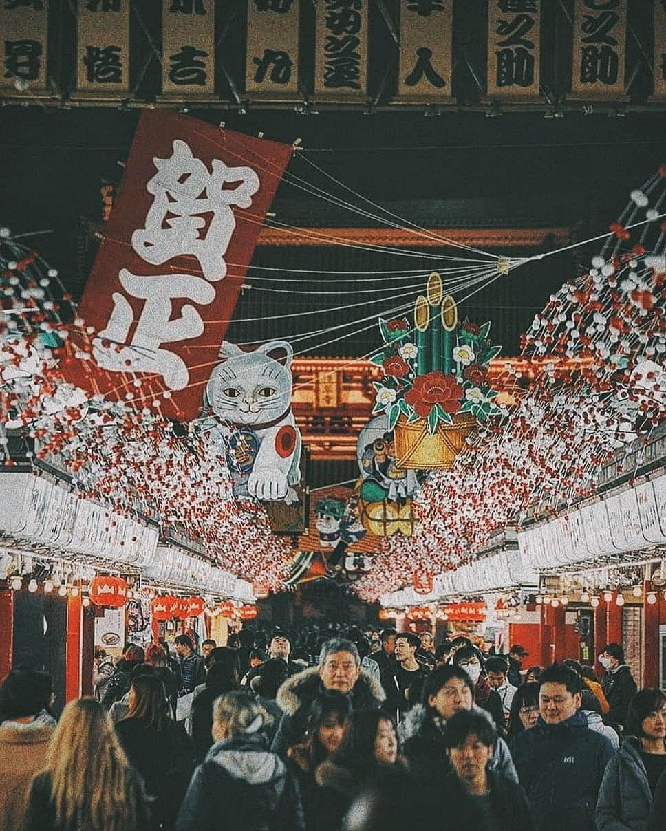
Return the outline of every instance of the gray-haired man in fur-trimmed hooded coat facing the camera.
<path id="1" fill-rule="evenodd" d="M 376 710 L 386 698 L 379 680 L 361 668 L 356 644 L 333 637 L 323 644 L 319 666 L 312 666 L 284 681 L 276 701 L 284 715 L 271 750 L 286 756 L 305 735 L 313 701 L 326 690 L 349 697 L 353 711 Z"/>

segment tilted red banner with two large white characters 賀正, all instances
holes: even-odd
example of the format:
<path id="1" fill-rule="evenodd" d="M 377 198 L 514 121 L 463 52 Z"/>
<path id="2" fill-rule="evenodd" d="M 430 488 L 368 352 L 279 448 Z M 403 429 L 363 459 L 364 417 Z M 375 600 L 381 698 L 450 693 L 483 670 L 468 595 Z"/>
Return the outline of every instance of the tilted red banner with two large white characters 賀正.
<path id="1" fill-rule="evenodd" d="M 62 361 L 67 380 L 139 410 L 197 415 L 291 153 L 170 111 L 142 113 L 81 300 L 91 360 Z"/>

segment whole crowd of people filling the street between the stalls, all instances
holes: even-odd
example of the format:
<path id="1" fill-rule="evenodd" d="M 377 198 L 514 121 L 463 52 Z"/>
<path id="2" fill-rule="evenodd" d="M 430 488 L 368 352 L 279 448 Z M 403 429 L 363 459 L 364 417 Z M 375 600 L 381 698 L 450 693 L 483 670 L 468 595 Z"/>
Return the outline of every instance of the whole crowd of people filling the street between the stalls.
<path id="1" fill-rule="evenodd" d="M 468 637 L 190 635 L 114 663 L 56 720 L 0 686 L 0 831 L 664 831 L 666 693 L 622 647 L 526 666 Z"/>

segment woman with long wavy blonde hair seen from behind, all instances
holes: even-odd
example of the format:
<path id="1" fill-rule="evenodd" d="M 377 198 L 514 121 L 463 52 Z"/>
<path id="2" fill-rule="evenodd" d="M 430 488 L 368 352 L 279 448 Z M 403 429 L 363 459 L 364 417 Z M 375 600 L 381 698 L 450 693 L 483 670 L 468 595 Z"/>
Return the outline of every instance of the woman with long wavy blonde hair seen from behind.
<path id="1" fill-rule="evenodd" d="M 141 777 L 99 701 L 62 711 L 43 770 L 32 780 L 23 831 L 146 831 Z"/>

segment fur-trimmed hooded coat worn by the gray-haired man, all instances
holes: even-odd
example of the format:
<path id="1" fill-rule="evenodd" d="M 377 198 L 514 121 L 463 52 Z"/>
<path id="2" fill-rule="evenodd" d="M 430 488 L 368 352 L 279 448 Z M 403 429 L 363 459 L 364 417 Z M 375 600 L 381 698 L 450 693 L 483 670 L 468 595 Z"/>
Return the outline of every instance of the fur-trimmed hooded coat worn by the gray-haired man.
<path id="1" fill-rule="evenodd" d="M 270 749 L 284 759 L 292 745 L 298 745 L 308 726 L 310 707 L 324 690 L 317 666 L 291 676 L 279 688 L 275 701 L 284 712 Z M 377 710 L 385 699 L 382 685 L 369 672 L 361 670 L 349 694 L 353 711 Z"/>

